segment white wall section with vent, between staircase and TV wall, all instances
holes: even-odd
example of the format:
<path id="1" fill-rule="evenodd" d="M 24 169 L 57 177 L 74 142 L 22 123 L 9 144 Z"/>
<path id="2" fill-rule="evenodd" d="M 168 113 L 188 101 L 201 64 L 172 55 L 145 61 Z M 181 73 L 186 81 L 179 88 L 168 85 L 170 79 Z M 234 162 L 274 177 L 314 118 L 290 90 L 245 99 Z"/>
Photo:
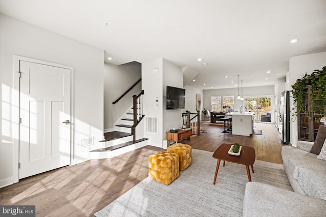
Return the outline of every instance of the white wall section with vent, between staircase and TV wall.
<path id="1" fill-rule="evenodd" d="M 163 60 L 161 58 L 142 63 L 143 113 L 157 117 L 157 134 L 144 133 L 150 139 L 149 144 L 162 147 L 163 142 Z M 155 105 L 156 98 L 158 106 Z"/>

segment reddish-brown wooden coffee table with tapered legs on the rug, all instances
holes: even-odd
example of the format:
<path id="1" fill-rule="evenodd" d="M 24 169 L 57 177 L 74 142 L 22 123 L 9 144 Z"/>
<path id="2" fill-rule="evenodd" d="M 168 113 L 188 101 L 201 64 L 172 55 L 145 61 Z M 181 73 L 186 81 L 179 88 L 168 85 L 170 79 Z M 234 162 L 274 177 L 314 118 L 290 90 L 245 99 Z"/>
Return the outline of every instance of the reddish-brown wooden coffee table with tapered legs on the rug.
<path id="1" fill-rule="evenodd" d="M 249 181 L 251 181 L 249 165 L 251 166 L 253 173 L 255 173 L 254 168 L 253 168 L 253 164 L 255 163 L 255 158 L 256 158 L 255 149 L 253 147 L 248 147 L 248 146 L 242 145 L 240 155 L 234 156 L 234 155 L 231 155 L 228 153 L 231 145 L 232 144 L 222 144 L 213 153 L 213 158 L 218 159 L 218 165 L 216 165 L 215 177 L 214 177 L 213 184 L 215 184 L 216 177 L 218 176 L 218 171 L 219 171 L 221 160 L 224 161 L 223 166 L 225 165 L 226 161 L 236 163 L 236 164 L 246 165 Z"/>

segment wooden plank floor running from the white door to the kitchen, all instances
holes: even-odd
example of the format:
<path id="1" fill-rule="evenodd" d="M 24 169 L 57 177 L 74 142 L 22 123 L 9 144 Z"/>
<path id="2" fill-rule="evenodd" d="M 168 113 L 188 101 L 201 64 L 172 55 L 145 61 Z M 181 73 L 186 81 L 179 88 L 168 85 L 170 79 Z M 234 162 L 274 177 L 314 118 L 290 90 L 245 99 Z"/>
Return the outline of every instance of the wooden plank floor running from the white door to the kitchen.
<path id="1" fill-rule="evenodd" d="M 254 147 L 256 160 L 282 164 L 283 146 L 270 123 L 257 123 L 262 135 L 232 136 L 223 126 L 203 123 L 205 133 L 193 136 L 193 148 L 215 151 L 222 143 Z M 36 205 L 36 216 L 93 216 L 148 176 L 148 156 L 163 151 L 145 146 L 112 159 L 90 160 L 32 177 L 0 189 L 1 205 Z M 211 174 L 212 180 L 214 174 Z"/>

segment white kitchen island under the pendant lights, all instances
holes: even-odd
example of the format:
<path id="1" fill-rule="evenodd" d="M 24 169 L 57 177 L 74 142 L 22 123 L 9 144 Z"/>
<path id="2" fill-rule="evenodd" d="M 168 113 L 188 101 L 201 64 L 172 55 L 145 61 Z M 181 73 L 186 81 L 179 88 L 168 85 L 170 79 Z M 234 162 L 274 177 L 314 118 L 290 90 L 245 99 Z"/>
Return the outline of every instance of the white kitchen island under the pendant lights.
<path id="1" fill-rule="evenodd" d="M 254 132 L 254 112 L 229 112 L 232 116 L 232 135 L 250 136 Z"/>

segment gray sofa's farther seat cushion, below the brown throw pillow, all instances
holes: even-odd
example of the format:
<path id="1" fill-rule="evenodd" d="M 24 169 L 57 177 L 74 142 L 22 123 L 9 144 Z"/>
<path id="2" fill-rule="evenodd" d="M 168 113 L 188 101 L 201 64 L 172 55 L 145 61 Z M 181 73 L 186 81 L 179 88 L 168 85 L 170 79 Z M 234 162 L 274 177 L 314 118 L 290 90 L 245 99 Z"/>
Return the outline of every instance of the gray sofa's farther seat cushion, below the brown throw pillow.
<path id="1" fill-rule="evenodd" d="M 286 174 L 295 180 L 298 178 L 299 168 L 311 168 L 326 171 L 326 161 L 317 159 L 316 154 L 293 146 L 282 147 L 283 164 L 286 165 Z"/>

